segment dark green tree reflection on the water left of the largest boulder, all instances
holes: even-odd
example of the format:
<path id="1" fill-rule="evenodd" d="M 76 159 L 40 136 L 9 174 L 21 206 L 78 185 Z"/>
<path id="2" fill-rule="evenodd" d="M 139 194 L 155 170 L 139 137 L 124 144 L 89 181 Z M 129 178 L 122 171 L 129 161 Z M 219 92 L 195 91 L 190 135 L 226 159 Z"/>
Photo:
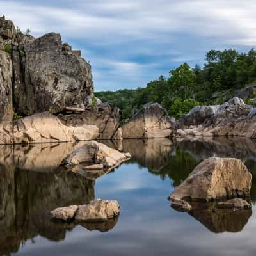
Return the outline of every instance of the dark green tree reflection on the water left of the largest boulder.
<path id="1" fill-rule="evenodd" d="M 173 180 L 173 186 L 179 186 L 198 163 L 200 163 L 200 161 L 178 147 L 176 154 L 170 156 L 163 168 L 158 170 L 158 172 L 148 169 L 148 172 L 159 175 L 163 180 L 166 179 L 166 177 L 169 177 Z"/>

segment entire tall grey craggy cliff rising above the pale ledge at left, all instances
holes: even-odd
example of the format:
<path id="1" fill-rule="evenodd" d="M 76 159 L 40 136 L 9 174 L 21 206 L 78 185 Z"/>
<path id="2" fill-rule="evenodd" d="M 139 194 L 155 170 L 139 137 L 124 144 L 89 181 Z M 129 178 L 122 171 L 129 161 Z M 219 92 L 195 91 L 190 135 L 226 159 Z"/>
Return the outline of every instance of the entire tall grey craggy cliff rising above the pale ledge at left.
<path id="1" fill-rule="evenodd" d="M 60 34 L 33 38 L 0 17 L 0 120 L 92 104 L 90 64 Z"/>

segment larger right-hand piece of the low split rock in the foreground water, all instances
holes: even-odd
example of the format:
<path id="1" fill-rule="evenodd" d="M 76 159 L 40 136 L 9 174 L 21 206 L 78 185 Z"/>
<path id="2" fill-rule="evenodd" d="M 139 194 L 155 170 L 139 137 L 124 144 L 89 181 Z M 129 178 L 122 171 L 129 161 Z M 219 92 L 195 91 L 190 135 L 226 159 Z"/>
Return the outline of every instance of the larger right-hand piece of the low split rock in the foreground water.
<path id="1" fill-rule="evenodd" d="M 86 222 L 108 221 L 119 215 L 120 206 L 116 200 L 94 200 L 90 204 L 79 205 L 75 220 Z"/>

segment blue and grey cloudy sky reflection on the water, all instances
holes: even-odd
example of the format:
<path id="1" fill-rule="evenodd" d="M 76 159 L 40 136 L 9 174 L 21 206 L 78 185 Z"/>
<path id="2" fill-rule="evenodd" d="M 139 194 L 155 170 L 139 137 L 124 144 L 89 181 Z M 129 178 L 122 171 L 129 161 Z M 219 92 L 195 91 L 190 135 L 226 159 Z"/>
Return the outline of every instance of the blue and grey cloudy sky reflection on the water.
<path id="1" fill-rule="evenodd" d="M 76 227 L 59 243 L 36 237 L 18 255 L 254 255 L 255 214 L 241 232 L 214 234 L 189 214 L 170 208 L 170 184 L 147 168 L 123 164 L 95 185 L 97 198 L 117 199 L 121 205 L 113 230 Z"/>

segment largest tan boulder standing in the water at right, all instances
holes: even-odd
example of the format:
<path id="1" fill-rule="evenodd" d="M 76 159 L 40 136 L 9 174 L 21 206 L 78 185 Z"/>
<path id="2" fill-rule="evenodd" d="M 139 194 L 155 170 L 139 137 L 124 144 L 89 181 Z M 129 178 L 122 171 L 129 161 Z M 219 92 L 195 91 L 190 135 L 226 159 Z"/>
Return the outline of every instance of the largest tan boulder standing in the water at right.
<path id="1" fill-rule="evenodd" d="M 211 157 L 198 164 L 169 199 L 215 200 L 250 195 L 252 175 L 239 159 Z"/>

